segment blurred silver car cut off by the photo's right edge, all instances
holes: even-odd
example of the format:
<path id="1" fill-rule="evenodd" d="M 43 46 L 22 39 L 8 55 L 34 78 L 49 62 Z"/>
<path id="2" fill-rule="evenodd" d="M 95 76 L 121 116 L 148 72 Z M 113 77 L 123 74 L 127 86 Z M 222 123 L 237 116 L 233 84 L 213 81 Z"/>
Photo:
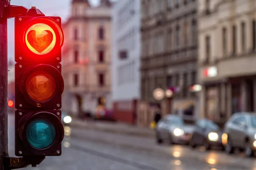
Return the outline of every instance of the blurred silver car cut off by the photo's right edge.
<path id="1" fill-rule="evenodd" d="M 223 136 L 226 153 L 233 153 L 238 148 L 246 156 L 253 156 L 256 151 L 256 113 L 234 113 L 224 125 Z"/>

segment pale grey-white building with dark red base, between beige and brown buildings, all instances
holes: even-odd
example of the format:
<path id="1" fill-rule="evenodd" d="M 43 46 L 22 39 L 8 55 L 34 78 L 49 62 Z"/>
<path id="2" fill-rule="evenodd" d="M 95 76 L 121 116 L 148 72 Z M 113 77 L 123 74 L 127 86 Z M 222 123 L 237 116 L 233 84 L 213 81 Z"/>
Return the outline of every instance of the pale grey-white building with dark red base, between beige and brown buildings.
<path id="1" fill-rule="evenodd" d="M 116 2 L 112 21 L 113 113 L 118 121 L 135 123 L 140 99 L 140 1 Z"/>

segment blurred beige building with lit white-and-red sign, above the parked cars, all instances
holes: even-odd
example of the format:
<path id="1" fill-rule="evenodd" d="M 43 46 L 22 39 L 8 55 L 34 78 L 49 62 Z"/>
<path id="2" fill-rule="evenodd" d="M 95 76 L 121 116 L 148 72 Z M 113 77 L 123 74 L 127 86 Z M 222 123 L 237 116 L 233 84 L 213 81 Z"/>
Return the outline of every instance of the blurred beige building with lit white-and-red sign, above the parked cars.
<path id="1" fill-rule="evenodd" d="M 256 111 L 255 9 L 255 0 L 199 0 L 201 117 Z"/>

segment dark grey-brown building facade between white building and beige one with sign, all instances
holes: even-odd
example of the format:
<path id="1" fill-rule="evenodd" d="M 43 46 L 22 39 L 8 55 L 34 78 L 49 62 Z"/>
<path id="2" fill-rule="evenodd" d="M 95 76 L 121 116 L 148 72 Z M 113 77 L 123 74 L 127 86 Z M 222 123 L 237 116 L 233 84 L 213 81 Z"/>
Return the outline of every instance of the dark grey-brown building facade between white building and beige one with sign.
<path id="1" fill-rule="evenodd" d="M 141 97 L 162 113 L 196 119 L 198 100 L 189 92 L 197 83 L 197 0 L 141 0 Z M 179 90 L 157 101 L 156 88 Z M 143 104 L 145 107 L 145 104 Z M 190 112 L 186 112 L 192 109 Z M 152 109 L 149 109 L 152 110 Z M 141 118 L 152 119 L 152 118 Z"/>

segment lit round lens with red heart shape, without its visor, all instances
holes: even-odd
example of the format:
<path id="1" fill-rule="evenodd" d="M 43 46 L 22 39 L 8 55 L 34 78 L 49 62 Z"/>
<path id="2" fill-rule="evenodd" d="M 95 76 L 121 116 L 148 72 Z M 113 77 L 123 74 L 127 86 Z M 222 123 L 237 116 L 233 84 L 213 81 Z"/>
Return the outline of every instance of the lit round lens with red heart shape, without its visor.
<path id="1" fill-rule="evenodd" d="M 29 27 L 25 34 L 29 50 L 38 55 L 48 54 L 55 47 L 56 35 L 53 29 L 44 23 Z"/>

